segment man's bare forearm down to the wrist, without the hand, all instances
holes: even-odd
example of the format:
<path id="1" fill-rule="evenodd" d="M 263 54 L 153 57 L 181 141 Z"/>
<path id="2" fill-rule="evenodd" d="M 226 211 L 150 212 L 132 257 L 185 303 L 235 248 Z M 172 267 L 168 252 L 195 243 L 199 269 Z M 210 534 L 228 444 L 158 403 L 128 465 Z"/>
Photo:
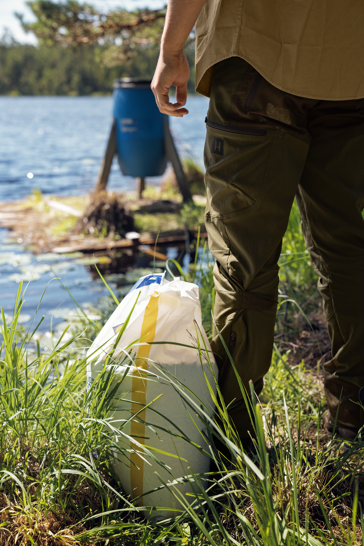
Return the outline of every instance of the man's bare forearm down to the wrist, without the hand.
<path id="1" fill-rule="evenodd" d="M 169 0 L 161 52 L 179 55 L 206 0 Z"/>

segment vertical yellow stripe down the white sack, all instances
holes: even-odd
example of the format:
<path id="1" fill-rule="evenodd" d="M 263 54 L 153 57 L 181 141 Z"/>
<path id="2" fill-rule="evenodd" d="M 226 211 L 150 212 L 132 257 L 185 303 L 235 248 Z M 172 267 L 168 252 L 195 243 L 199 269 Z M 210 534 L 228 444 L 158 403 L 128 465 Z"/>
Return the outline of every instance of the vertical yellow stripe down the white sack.
<path id="1" fill-rule="evenodd" d="M 145 308 L 144 319 L 141 327 L 141 343 L 154 341 L 156 335 L 156 325 L 158 317 L 158 298 L 159 294 L 154 292 Z M 144 337 L 146 336 L 146 337 Z M 147 403 L 147 376 L 144 370 L 147 369 L 147 359 L 151 350 L 151 345 L 140 345 L 138 356 L 135 359 L 135 368 L 133 369 L 132 382 L 132 415 L 138 413 Z M 145 436 L 145 413 L 143 410 L 138 417 L 130 422 L 130 436 L 134 437 L 140 444 L 144 445 Z M 135 446 L 136 447 L 136 446 Z M 139 448 L 140 449 L 140 448 Z M 141 453 L 144 455 L 144 453 Z M 130 453 L 130 486 L 133 497 L 142 495 L 144 478 L 144 460 L 138 453 Z M 142 498 L 138 506 L 142 506 Z"/>

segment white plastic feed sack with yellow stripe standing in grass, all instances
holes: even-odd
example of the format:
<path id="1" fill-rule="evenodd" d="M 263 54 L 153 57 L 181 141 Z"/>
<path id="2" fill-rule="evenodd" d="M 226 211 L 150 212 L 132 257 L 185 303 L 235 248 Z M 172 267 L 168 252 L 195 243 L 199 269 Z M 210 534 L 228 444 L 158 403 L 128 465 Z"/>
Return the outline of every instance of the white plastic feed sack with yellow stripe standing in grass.
<path id="1" fill-rule="evenodd" d="M 190 441 L 208 451 L 203 435 L 205 425 L 196 416 L 198 410 L 196 408 L 192 410 L 183 396 L 192 397 L 200 407 L 201 402 L 189 393 L 188 389 L 190 389 L 206 406 L 207 409 L 204 411 L 212 416 L 214 405 L 204 372 L 212 389 L 214 391 L 216 389 L 210 366 L 205 359 L 202 359 L 204 362 L 202 369 L 200 355 L 196 348 L 169 344 L 142 345 L 147 342 L 163 341 L 196 346 L 196 342 L 191 337 L 196 338 L 195 321 L 204 336 L 208 351 L 211 351 L 210 343 L 202 328 L 198 286 L 181 281 L 179 278 L 168 282 L 164 274 L 142 277 L 112 313 L 87 353 L 88 387 L 91 387 L 92 382 L 103 369 L 106 355 L 114 346 L 117 334 L 132 310 L 139 293 L 138 302 L 114 353 L 114 361 L 120 361 L 122 355 L 127 353 L 123 353 L 122 349 L 142 337 L 140 345 L 136 343 L 133 346 L 134 362 L 131 363 L 130 358 L 127 357 L 121 365 L 108 363 L 108 366 L 110 365 L 116 372 L 115 381 L 120 381 L 127 372 L 118 388 L 114 405 L 116 411 L 113 413 L 111 424 L 121 429 L 127 436 L 136 438 L 141 446 L 118 435 L 118 445 L 124 451 L 115 454 L 114 468 L 124 490 L 130 494 L 130 498 L 140 496 L 138 506 L 158 506 L 170 509 L 152 512 L 154 520 L 162 520 L 175 517 L 182 507 L 172 495 L 170 487 L 147 494 L 148 491 L 162 485 L 154 472 L 158 472 L 168 483 L 173 482 L 174 478 L 190 475 L 189 466 L 194 472 L 201 473 L 208 472 L 210 465 L 210 460 L 198 449 L 181 437 L 169 434 L 168 431 L 180 434 L 177 430 L 180 429 Z M 199 337 L 202 345 L 201 334 Z M 209 354 L 217 376 L 216 363 L 212 353 Z M 165 378 L 164 373 L 170 377 L 170 381 Z M 176 384 L 180 385 L 179 390 L 173 387 Z M 181 387 L 181 384 L 186 388 Z M 158 400 L 140 412 L 160 394 L 162 396 Z M 138 416 L 126 423 L 137 412 L 140 412 Z M 146 454 L 142 446 L 175 454 L 178 458 L 151 450 L 151 453 L 170 469 L 168 471 Z M 143 460 L 133 449 L 144 455 L 146 460 Z M 188 503 L 192 502 L 193 497 L 186 496 L 188 492 L 192 492 L 188 482 L 178 484 L 177 488 Z M 149 510 L 145 511 L 145 515 L 149 513 Z"/>

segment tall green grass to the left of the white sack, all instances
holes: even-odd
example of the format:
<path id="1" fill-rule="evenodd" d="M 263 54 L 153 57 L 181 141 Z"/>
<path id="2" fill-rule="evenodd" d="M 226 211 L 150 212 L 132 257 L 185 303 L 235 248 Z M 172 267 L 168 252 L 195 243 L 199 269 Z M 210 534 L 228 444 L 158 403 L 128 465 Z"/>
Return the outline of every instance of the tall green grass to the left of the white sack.
<path id="1" fill-rule="evenodd" d="M 67 327 L 50 354 L 31 347 L 41 321 L 24 335 L 18 324 L 24 292 L 19 285 L 14 318 L 2 310 L 0 353 L 0 544 L 71 544 L 89 517 L 125 499 L 112 480 L 105 432 L 112 377 L 86 390 L 85 358 L 72 358 L 80 336 Z M 21 335 L 23 334 L 23 335 Z M 66 354 L 67 357 L 63 358 Z"/>

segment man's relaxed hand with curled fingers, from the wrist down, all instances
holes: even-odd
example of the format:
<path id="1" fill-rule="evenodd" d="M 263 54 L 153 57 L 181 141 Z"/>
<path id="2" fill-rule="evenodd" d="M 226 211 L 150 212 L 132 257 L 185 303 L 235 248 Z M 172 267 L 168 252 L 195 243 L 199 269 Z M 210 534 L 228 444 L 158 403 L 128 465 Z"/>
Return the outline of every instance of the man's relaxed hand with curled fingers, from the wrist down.
<path id="1" fill-rule="evenodd" d="M 186 104 L 187 100 L 188 78 L 189 66 L 183 51 L 177 52 L 175 55 L 162 55 L 161 52 L 151 87 L 162 114 L 176 117 L 188 114 L 186 108 L 181 108 Z M 175 104 L 169 102 L 169 88 L 171 85 L 176 86 L 177 102 Z"/>

